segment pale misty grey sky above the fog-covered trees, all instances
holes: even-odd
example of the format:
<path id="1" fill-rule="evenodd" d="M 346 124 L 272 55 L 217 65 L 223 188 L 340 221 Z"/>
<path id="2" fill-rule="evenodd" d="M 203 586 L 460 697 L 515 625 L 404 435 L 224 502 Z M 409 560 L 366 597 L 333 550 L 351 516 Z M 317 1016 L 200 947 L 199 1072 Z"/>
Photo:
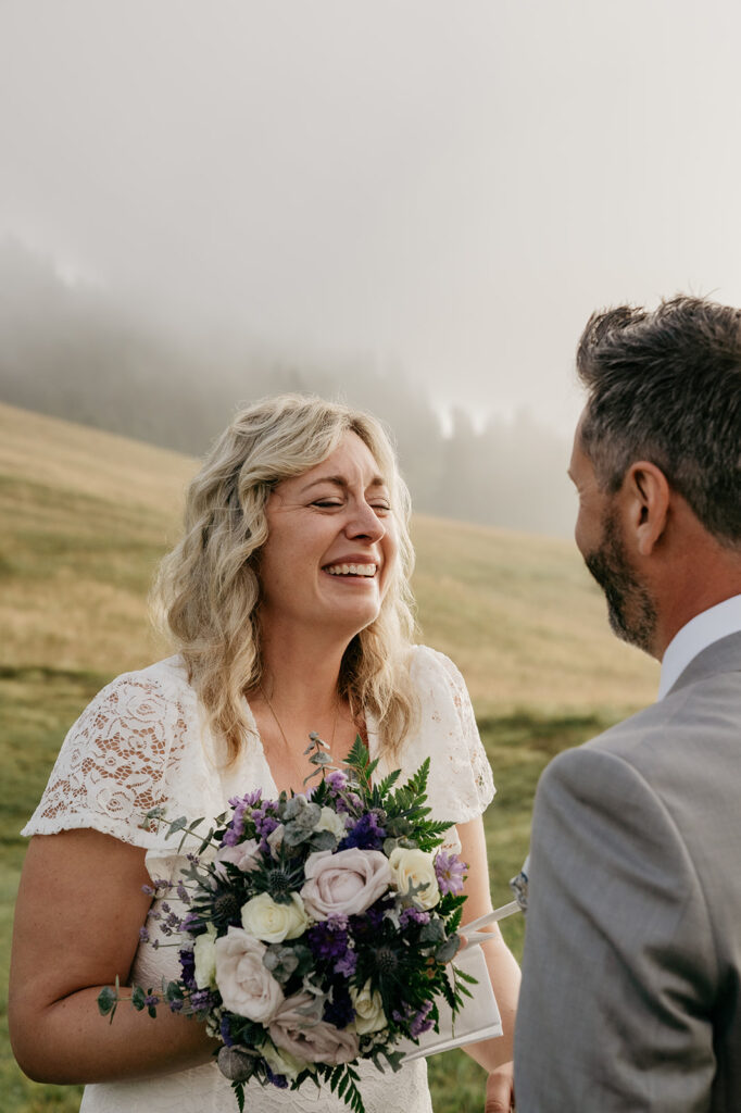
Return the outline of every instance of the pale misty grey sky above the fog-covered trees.
<path id="1" fill-rule="evenodd" d="M 740 41 L 734 0 L 0 0 L 0 237 L 565 430 L 593 307 L 741 303 Z"/>

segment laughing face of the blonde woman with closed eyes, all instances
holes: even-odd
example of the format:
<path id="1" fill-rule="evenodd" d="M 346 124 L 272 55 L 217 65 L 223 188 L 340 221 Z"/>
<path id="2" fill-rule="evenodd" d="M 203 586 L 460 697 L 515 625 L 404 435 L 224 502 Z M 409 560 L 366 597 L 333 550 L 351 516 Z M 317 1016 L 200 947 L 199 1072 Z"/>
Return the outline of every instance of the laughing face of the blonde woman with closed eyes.
<path id="1" fill-rule="evenodd" d="M 279 483 L 266 514 L 264 631 L 287 624 L 347 639 L 373 622 L 397 544 L 385 477 L 360 437 L 346 433 L 320 464 Z"/>

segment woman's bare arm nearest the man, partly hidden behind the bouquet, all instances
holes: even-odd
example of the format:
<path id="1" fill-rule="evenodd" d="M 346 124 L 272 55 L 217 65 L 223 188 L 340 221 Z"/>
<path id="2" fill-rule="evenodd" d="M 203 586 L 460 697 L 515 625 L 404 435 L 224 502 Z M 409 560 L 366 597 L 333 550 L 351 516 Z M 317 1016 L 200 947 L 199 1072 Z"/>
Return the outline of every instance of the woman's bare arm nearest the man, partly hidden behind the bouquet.
<path id="1" fill-rule="evenodd" d="M 486 861 L 486 841 L 484 825 L 481 819 L 472 819 L 458 825 L 461 839 L 461 857 L 468 864 L 468 874 L 464 886 L 467 900 L 463 907 L 463 925 L 492 912 L 492 897 L 488 888 L 488 865 Z M 517 1011 L 517 994 L 520 992 L 520 967 L 502 938 L 498 925 L 491 925 L 491 942 L 483 945 L 486 965 L 488 967 L 496 1004 L 502 1016 L 504 1035 L 495 1040 L 468 1044 L 464 1051 L 471 1055 L 484 1070 L 488 1071 L 486 1086 L 486 1113 L 508 1113 L 513 1103 L 513 1040 L 515 1015 Z"/>

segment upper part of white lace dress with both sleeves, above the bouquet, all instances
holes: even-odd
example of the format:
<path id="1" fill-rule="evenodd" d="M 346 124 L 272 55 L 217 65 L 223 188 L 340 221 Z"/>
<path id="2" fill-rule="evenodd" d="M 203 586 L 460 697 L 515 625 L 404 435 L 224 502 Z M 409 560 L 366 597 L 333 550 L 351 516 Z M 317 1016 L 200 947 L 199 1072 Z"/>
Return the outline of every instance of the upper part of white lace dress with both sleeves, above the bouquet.
<path id="1" fill-rule="evenodd" d="M 463 677 L 448 658 L 425 646 L 415 647 L 411 673 L 419 719 L 396 757 L 381 755 L 381 769 L 398 765 L 408 775 L 431 757 L 433 812 L 465 823 L 482 814 L 494 785 Z M 372 757 L 378 757 L 372 718 L 368 742 Z M 276 792 L 257 730 L 235 765 L 225 768 L 206 712 L 174 657 L 125 673 L 96 696 L 67 735 L 22 834 L 93 827 L 152 849 L 161 838 L 144 831 L 140 823 L 154 805 L 167 806 L 171 815 L 210 818 L 229 796 L 254 788 Z"/>

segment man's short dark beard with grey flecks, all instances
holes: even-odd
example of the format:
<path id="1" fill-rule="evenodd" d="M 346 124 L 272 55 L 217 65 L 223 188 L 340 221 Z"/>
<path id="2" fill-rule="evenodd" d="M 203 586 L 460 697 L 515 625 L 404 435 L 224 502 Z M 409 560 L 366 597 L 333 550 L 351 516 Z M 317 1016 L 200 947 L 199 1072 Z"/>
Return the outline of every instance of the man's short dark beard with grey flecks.
<path id="1" fill-rule="evenodd" d="M 584 556 L 584 563 L 604 591 L 613 633 L 650 653 L 656 630 L 656 608 L 631 568 L 614 511 L 605 515 L 600 546 Z"/>

